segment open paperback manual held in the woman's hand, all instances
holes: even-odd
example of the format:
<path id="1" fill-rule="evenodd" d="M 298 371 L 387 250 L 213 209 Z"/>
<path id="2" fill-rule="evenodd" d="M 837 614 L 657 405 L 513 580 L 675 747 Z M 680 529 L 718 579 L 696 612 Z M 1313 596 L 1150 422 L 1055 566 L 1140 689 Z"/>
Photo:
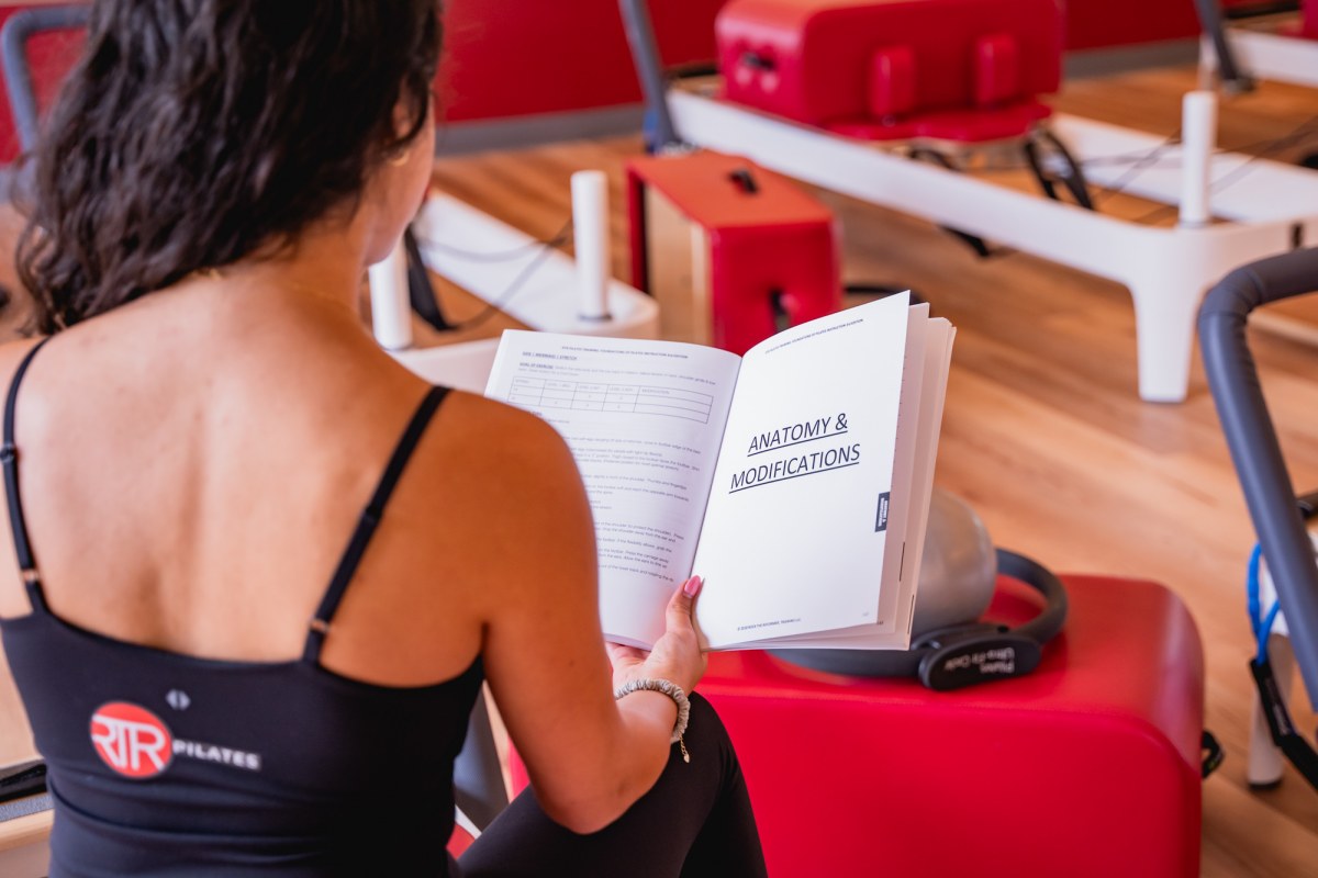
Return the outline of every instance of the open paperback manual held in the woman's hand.
<path id="1" fill-rule="evenodd" d="M 567 440 L 605 634 L 648 646 L 700 574 L 709 649 L 907 648 L 954 329 L 902 294 L 737 357 L 506 332 L 486 395 Z"/>

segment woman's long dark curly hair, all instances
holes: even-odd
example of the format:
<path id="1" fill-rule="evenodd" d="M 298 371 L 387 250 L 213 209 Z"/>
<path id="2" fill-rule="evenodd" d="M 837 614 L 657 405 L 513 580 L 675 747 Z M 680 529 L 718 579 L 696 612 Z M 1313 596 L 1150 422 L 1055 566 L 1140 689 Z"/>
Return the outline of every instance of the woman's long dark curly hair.
<path id="1" fill-rule="evenodd" d="M 34 154 L 18 267 L 38 328 L 355 208 L 430 124 L 439 41 L 436 0 L 98 0 Z"/>

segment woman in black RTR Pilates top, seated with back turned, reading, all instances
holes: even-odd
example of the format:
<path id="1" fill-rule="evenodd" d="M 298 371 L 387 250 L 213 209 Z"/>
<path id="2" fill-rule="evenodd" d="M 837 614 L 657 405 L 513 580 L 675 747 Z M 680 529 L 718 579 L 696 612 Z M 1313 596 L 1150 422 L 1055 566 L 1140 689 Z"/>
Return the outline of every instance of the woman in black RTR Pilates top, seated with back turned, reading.
<path id="1" fill-rule="evenodd" d="M 94 7 L 21 249 L 53 334 L 0 349 L 51 875 L 457 874 L 482 674 L 535 794 L 461 874 L 763 873 L 708 704 L 670 744 L 699 581 L 606 654 L 563 442 L 358 320 L 426 190 L 438 39 L 434 0 Z"/>

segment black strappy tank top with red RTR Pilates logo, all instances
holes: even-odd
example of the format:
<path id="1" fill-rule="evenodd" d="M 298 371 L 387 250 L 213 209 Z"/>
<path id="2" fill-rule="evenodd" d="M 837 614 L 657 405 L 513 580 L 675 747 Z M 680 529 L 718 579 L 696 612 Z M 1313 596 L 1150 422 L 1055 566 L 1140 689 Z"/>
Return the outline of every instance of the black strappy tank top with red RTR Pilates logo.
<path id="1" fill-rule="evenodd" d="M 414 688 L 357 682 L 319 663 L 335 608 L 445 391 L 431 390 L 394 450 L 302 658 L 216 661 L 105 637 L 50 612 L 13 444 L 18 383 L 40 348 L 9 387 L 0 448 L 33 611 L 0 620 L 0 631 L 49 767 L 51 878 L 451 874 L 453 758 L 480 687 L 478 659 L 455 679 Z"/>

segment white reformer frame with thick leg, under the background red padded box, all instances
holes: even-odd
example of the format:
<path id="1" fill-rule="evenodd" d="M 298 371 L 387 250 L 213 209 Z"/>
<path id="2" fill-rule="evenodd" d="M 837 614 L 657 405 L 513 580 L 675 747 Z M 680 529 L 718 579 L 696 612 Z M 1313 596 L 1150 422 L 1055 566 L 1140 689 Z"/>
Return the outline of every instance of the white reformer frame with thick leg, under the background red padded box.
<path id="1" fill-rule="evenodd" d="M 1246 179 L 1211 195 L 1211 215 L 1227 222 L 1155 228 L 695 92 L 670 91 L 668 107 L 677 133 L 693 145 L 741 154 L 805 183 L 1123 283 L 1135 303 L 1139 392 L 1148 401 L 1185 399 L 1195 316 L 1213 283 L 1246 262 L 1318 241 L 1318 174 L 1247 155 L 1218 153 L 1207 161 L 1213 180 L 1247 162 L 1252 166 Z M 1165 145 L 1153 134 L 1075 116 L 1054 116 L 1050 125 L 1078 162 L 1141 155 Z M 1180 165 L 1181 147 L 1165 146 L 1161 155 L 1124 191 L 1178 204 L 1182 172 L 1168 165 Z M 1114 183 L 1127 170 L 1111 165 L 1086 167 L 1085 174 L 1095 183 Z"/>

